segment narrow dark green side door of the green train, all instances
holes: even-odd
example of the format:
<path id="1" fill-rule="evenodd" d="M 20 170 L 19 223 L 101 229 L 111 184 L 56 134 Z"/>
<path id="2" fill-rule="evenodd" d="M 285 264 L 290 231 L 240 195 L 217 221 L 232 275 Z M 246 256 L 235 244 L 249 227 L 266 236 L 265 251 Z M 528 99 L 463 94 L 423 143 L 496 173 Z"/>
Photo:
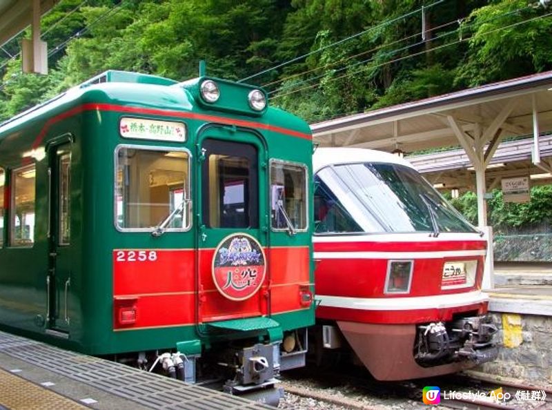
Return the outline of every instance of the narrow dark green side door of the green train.
<path id="1" fill-rule="evenodd" d="M 70 144 L 57 144 L 48 149 L 50 184 L 50 264 L 48 269 L 48 328 L 69 331 L 69 293 L 71 286 L 70 226 Z"/>

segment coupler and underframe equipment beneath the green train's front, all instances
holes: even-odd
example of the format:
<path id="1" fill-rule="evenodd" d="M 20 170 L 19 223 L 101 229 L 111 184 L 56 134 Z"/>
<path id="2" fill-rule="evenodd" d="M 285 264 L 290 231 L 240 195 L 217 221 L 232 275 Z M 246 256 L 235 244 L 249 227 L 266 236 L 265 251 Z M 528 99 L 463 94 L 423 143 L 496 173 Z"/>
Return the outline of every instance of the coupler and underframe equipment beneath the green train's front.
<path id="1" fill-rule="evenodd" d="M 212 344 L 209 354 L 181 351 L 129 353 L 118 362 L 169 378 L 225 391 L 235 396 L 277 406 L 283 396 L 276 387 L 280 371 L 303 367 L 308 344 L 306 329 L 284 333 L 283 340 L 259 338 L 233 344 Z"/>

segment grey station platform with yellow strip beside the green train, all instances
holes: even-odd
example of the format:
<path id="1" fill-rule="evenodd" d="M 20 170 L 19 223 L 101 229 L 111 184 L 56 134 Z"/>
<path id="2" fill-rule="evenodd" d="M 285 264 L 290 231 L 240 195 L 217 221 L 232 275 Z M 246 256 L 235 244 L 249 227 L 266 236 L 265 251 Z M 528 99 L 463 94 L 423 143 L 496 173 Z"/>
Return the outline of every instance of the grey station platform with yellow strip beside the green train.
<path id="1" fill-rule="evenodd" d="M 272 409 L 0 331 L 0 410 Z"/>

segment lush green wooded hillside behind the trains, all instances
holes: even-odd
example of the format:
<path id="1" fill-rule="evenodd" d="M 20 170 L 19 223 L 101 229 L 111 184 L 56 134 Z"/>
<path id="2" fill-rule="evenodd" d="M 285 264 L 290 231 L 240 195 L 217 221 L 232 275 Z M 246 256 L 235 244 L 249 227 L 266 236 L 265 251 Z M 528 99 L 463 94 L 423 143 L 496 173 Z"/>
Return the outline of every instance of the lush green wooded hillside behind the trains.
<path id="1" fill-rule="evenodd" d="M 550 70 L 551 13 L 528 0 L 62 0 L 42 21 L 48 76 L 21 75 L 23 35 L 0 50 L 0 119 L 103 70 L 184 80 L 205 59 L 319 121 Z"/>

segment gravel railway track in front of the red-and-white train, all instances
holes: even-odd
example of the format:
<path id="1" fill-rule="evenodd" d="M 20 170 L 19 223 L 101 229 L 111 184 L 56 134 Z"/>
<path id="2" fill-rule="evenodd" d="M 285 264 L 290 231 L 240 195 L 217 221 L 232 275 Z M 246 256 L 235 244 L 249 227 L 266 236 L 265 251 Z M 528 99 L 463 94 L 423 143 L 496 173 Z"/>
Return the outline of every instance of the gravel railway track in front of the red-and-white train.
<path id="1" fill-rule="evenodd" d="M 440 387 L 438 409 L 552 409 L 550 387 L 522 380 L 469 372 L 413 382 L 378 382 L 367 372 L 346 370 L 297 371 L 284 378 L 282 387 L 291 395 L 325 403 L 304 407 L 308 409 L 428 409 L 422 402 L 425 386 Z"/>

